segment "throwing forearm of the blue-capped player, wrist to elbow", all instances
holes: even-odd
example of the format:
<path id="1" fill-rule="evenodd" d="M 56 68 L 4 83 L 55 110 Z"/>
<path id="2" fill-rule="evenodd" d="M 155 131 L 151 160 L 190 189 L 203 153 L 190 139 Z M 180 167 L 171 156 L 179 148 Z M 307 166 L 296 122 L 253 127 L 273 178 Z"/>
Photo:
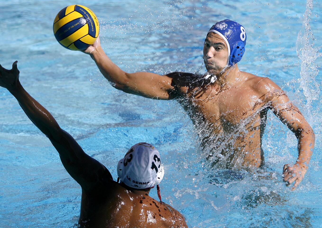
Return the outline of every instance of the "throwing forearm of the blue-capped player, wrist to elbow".
<path id="1" fill-rule="evenodd" d="M 101 47 L 96 48 L 91 54 L 91 57 L 94 59 L 103 76 L 115 84 L 115 87 L 122 88 L 122 85 L 125 84 L 127 79 L 127 75 L 109 59 L 103 49 Z"/>

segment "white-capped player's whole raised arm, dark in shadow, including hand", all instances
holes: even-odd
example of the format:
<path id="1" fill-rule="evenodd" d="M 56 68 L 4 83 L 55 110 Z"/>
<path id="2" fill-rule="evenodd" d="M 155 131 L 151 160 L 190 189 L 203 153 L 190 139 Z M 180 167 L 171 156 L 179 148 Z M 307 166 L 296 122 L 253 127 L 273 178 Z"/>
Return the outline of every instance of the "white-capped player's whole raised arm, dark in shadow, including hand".
<path id="1" fill-rule="evenodd" d="M 14 95 L 33 124 L 49 138 L 65 169 L 83 189 L 92 189 L 102 177 L 112 179 L 105 166 L 85 154 L 73 137 L 62 130 L 52 115 L 24 90 L 19 82 L 17 61 L 13 63 L 11 70 L 0 65 L 0 86 Z"/>

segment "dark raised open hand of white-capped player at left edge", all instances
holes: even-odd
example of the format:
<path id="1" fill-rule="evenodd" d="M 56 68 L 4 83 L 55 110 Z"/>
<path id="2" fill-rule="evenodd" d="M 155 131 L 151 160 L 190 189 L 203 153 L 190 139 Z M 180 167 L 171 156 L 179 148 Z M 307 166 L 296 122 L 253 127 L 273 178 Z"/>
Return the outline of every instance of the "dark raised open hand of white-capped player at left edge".
<path id="1" fill-rule="evenodd" d="M 17 68 L 18 61 L 12 64 L 12 69 L 7 70 L 0 65 L 0 86 L 11 89 L 19 82 L 19 70 Z"/>

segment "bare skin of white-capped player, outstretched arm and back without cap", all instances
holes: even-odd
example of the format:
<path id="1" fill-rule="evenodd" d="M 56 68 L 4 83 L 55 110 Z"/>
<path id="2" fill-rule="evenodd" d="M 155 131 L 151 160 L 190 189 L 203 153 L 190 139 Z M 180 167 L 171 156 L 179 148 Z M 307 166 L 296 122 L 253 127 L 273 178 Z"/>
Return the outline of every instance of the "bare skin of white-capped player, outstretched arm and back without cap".
<path id="1" fill-rule="evenodd" d="M 87 155 L 52 115 L 24 90 L 19 82 L 17 62 L 11 70 L 0 65 L 0 86 L 14 95 L 25 114 L 56 148 L 67 172 L 81 185 L 80 227 L 187 227 L 179 212 L 151 198 L 149 190 L 130 189 L 113 181 L 109 170 Z"/>

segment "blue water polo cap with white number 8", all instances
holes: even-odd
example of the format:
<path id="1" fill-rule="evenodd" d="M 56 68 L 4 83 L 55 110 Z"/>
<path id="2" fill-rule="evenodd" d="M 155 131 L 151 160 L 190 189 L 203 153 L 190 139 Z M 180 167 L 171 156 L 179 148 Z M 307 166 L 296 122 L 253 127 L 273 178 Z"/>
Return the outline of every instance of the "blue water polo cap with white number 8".
<path id="1" fill-rule="evenodd" d="M 228 60 L 226 66 L 232 66 L 241 61 L 245 53 L 246 31 L 245 28 L 235 21 L 225 19 L 214 24 L 208 33 L 220 35 L 228 47 Z"/>

